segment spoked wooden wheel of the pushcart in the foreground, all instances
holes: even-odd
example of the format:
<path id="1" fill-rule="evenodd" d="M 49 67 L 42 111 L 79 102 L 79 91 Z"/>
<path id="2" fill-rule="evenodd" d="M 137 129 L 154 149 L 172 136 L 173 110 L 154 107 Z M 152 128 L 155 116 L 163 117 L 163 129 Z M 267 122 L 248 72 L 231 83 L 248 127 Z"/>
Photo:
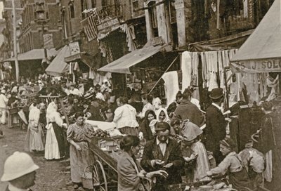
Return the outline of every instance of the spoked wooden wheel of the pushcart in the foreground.
<path id="1" fill-rule="evenodd" d="M 107 191 L 107 180 L 103 164 L 98 160 L 93 164 L 93 190 Z"/>

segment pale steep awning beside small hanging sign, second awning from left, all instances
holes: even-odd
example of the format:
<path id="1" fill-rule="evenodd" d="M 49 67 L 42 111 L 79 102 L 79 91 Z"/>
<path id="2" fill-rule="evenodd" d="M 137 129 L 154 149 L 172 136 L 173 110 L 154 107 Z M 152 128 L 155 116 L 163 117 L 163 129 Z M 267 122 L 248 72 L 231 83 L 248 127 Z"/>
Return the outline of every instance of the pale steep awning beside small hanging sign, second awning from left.
<path id="1" fill-rule="evenodd" d="M 52 76 L 61 76 L 61 74 L 68 72 L 70 70 L 70 66 L 65 62 L 65 57 L 67 56 L 70 56 L 70 47 L 65 45 L 48 65 L 45 72 Z"/>

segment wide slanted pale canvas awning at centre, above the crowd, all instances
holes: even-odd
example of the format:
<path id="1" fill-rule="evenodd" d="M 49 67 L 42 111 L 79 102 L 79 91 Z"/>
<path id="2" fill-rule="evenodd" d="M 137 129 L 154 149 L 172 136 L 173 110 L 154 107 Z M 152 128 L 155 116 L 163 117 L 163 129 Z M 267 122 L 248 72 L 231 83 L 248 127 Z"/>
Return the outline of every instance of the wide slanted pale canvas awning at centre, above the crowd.
<path id="1" fill-rule="evenodd" d="M 101 67 L 98 71 L 131 74 L 130 67 L 150 58 L 150 56 L 164 50 L 166 47 L 168 47 L 167 44 L 161 46 L 146 46 L 144 48 L 137 49 L 111 62 L 110 64 Z"/>

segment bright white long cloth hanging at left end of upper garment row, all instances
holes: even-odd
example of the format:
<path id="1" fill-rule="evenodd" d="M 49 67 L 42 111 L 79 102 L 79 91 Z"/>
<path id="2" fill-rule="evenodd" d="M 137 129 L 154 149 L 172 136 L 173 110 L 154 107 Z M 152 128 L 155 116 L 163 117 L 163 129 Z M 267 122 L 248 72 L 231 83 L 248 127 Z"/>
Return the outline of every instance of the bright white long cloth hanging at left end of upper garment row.
<path id="1" fill-rule="evenodd" d="M 184 91 L 185 88 L 188 88 L 190 86 L 191 70 L 192 70 L 191 53 L 188 51 L 185 51 L 181 55 L 181 72 L 183 72 L 183 80 L 182 80 L 183 84 L 182 84 L 182 88 L 181 88 L 182 91 Z"/>

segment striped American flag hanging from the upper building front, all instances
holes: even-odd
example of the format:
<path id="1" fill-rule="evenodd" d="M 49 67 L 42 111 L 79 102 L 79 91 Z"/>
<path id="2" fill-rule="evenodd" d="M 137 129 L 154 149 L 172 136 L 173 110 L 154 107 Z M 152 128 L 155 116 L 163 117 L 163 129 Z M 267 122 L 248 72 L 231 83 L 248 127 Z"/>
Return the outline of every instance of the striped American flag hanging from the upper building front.
<path id="1" fill-rule="evenodd" d="M 88 18 L 81 20 L 81 25 L 84 28 L 84 32 L 87 35 L 88 41 L 92 41 L 98 36 L 98 29 L 93 17 L 93 15 L 90 15 Z"/>

